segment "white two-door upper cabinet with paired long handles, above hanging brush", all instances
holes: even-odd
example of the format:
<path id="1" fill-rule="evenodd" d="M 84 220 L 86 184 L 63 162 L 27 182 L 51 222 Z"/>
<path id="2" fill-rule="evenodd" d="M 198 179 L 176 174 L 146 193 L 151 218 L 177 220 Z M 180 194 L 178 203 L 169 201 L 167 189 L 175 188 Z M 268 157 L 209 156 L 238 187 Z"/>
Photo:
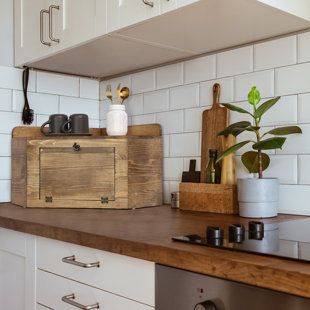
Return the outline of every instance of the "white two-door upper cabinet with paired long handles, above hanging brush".
<path id="1" fill-rule="evenodd" d="M 105 14 L 105 0 L 15 0 L 15 64 L 28 64 L 93 39 L 97 2 Z M 98 28 L 100 34 L 106 33 L 102 16 Z"/>

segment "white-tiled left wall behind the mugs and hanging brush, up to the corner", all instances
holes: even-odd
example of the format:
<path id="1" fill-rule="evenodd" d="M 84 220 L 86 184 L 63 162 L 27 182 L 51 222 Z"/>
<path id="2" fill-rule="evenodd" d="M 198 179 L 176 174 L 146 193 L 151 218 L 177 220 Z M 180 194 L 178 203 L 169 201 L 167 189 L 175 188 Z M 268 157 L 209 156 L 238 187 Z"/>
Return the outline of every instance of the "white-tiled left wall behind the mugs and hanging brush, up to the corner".
<path id="1" fill-rule="evenodd" d="M 24 105 L 22 70 L 13 67 L 13 0 L 0 0 L 0 202 L 11 200 L 11 131 L 22 125 Z M 99 127 L 99 82 L 30 72 L 29 102 L 35 112 L 33 126 L 54 113 L 86 113 L 90 126 Z"/>

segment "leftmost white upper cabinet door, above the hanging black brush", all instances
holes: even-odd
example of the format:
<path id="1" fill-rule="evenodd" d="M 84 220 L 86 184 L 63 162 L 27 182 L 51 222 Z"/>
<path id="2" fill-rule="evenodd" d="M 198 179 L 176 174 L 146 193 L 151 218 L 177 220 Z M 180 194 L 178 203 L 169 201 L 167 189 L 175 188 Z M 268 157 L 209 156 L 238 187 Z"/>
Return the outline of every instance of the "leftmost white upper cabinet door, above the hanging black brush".
<path id="1" fill-rule="evenodd" d="M 48 36 L 48 2 L 15 0 L 14 4 L 15 65 L 21 66 L 48 55 L 53 50 L 53 45 Z M 46 11 L 43 13 L 42 10 Z"/>

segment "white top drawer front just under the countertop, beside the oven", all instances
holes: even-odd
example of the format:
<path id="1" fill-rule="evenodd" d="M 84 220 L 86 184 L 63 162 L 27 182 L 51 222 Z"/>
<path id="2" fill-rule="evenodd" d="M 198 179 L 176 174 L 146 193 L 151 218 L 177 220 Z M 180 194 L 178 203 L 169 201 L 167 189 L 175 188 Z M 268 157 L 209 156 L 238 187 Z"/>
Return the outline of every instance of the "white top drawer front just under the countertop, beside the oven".
<path id="1" fill-rule="evenodd" d="M 83 268 L 62 262 L 62 258 L 72 255 L 79 262 L 99 262 L 100 267 Z M 38 238 L 37 267 L 150 306 L 155 305 L 155 264 L 152 262 Z"/>

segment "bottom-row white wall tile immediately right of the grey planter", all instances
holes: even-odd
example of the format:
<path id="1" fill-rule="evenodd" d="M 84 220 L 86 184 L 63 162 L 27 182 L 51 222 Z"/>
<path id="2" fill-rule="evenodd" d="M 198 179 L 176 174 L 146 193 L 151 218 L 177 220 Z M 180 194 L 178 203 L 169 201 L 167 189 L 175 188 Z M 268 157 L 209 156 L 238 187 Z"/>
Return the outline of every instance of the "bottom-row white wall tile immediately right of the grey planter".
<path id="1" fill-rule="evenodd" d="M 310 215 L 310 186 L 280 185 L 279 213 Z"/>

